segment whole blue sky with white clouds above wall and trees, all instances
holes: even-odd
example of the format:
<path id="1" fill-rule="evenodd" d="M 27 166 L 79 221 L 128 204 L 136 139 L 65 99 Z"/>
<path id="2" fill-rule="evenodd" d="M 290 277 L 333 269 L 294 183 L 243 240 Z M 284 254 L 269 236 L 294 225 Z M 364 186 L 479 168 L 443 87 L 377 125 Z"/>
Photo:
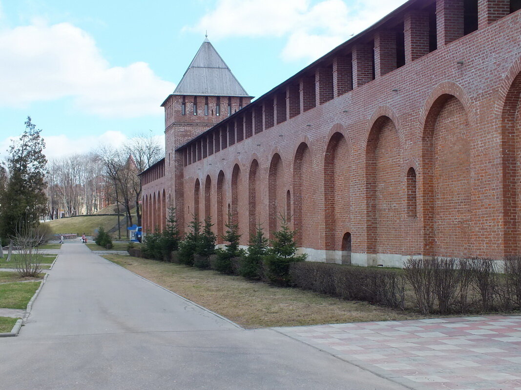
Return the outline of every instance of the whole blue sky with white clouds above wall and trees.
<path id="1" fill-rule="evenodd" d="M 0 0 L 0 160 L 30 115 L 49 160 L 162 141 L 205 33 L 261 96 L 405 0 Z"/>

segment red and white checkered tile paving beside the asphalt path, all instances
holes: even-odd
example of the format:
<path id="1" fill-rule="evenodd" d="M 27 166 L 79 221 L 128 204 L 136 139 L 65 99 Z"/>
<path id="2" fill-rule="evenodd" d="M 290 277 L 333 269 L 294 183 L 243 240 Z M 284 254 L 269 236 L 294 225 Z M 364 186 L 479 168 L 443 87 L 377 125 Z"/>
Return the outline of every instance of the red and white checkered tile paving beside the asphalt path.
<path id="1" fill-rule="evenodd" d="M 414 389 L 521 390 L 521 316 L 275 329 Z"/>

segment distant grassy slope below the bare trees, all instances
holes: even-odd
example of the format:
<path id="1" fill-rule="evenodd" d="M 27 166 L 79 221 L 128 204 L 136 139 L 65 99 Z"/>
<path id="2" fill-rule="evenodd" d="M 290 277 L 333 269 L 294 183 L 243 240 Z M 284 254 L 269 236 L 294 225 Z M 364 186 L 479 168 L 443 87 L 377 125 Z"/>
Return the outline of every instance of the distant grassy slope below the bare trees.
<path id="1" fill-rule="evenodd" d="M 125 220 L 125 217 L 123 217 Z M 94 234 L 94 229 L 102 226 L 106 231 L 112 229 L 118 223 L 117 215 L 92 215 L 88 217 L 70 217 L 55 219 L 46 222 L 54 233 L 78 233 L 79 236 L 83 233 L 87 236 Z M 121 232 L 126 234 L 126 229 L 122 228 Z"/>

